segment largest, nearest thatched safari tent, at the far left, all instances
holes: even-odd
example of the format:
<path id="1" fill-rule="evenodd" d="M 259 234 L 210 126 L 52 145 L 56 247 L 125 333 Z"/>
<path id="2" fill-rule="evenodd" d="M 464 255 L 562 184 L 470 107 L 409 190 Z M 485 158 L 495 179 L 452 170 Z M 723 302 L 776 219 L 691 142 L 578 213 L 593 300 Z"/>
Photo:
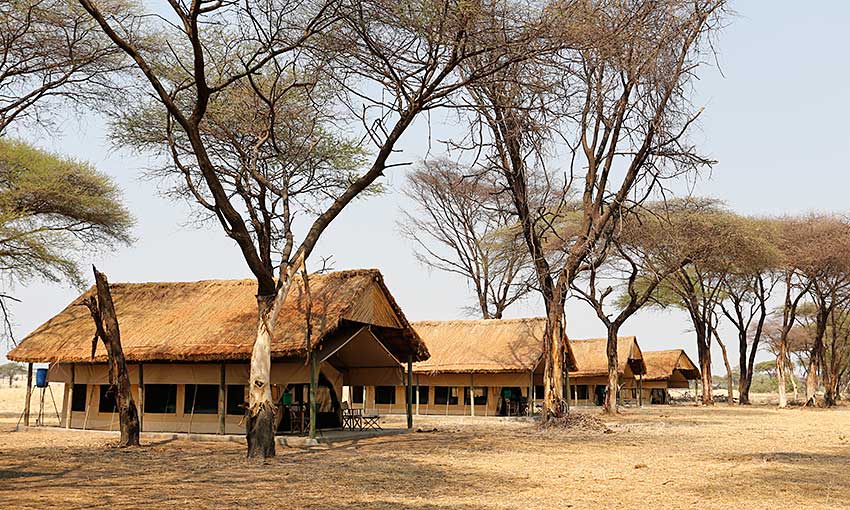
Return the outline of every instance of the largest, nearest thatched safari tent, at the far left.
<path id="1" fill-rule="evenodd" d="M 243 433 L 248 361 L 256 335 L 256 282 L 210 280 L 111 285 L 143 431 Z M 339 424 L 344 385 L 404 384 L 404 365 L 428 359 L 377 270 L 310 276 L 319 426 Z M 62 426 L 117 429 L 106 352 L 92 353 L 94 325 L 81 306 L 89 289 L 27 336 L 8 358 L 48 363 L 65 383 Z M 308 409 L 306 297 L 301 280 L 283 304 L 272 340 L 278 430 Z M 92 355 L 94 354 L 94 355 Z M 300 421 L 300 424 L 298 423 Z"/>

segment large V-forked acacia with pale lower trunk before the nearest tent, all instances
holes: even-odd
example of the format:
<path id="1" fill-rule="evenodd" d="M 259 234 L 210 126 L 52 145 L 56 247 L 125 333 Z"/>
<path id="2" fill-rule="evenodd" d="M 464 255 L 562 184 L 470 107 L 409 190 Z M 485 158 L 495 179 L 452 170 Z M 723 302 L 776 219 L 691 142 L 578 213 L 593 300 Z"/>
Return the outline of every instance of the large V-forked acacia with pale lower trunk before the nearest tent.
<path id="1" fill-rule="evenodd" d="M 396 143 L 420 113 L 534 48 L 534 18 L 508 23 L 514 11 L 507 2 L 471 6 L 449 1 L 399 5 L 385 0 L 292 0 L 243 5 L 202 0 L 169 2 L 176 24 L 159 16 L 128 23 L 113 18 L 96 0 L 79 1 L 133 60 L 143 87 L 154 92 L 165 119 L 160 132 L 167 133 L 170 168 L 185 181 L 193 202 L 234 240 L 257 280 L 257 334 L 246 411 L 248 456 L 274 455 L 271 340 L 294 276 L 339 213 L 393 166 L 389 159 Z M 511 44 L 478 44 L 490 30 L 482 23 L 485 19 L 514 26 Z M 146 37 L 151 33 L 157 37 Z M 491 53 L 471 75 L 458 72 L 473 56 Z M 324 79 L 334 82 L 344 106 L 358 112 L 375 152 L 341 187 L 332 179 L 334 184 L 320 184 L 307 193 L 322 200 L 302 208 L 310 218 L 295 230 L 289 221 L 292 211 L 286 209 L 292 206 L 292 183 L 279 169 L 287 164 L 292 147 L 275 134 L 277 116 L 289 114 L 279 113 L 278 106 L 292 91 L 310 97 Z M 217 152 L 220 145 L 210 141 L 213 135 L 205 125 L 215 102 L 228 105 L 234 90 L 250 90 L 261 110 L 259 125 L 233 134 L 250 150 L 230 165 L 231 155 Z M 339 112 L 326 113 L 324 118 L 338 117 Z M 324 182 L 327 172 L 336 174 L 337 167 L 321 162 L 312 169 Z M 305 233 L 297 240 L 296 232 Z"/>

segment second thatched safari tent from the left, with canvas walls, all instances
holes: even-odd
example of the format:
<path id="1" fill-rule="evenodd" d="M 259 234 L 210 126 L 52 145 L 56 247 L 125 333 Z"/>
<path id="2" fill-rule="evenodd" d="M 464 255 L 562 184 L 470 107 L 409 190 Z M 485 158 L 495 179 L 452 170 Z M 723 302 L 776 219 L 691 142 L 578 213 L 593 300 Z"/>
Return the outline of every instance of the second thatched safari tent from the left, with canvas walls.
<path id="1" fill-rule="evenodd" d="M 414 322 L 431 354 L 413 365 L 414 412 L 499 416 L 533 410 L 543 399 L 545 326 L 542 318 Z M 569 344 L 566 352 L 574 370 Z M 404 388 L 391 385 L 355 387 L 352 400 L 378 413 L 400 413 L 406 402 Z"/>

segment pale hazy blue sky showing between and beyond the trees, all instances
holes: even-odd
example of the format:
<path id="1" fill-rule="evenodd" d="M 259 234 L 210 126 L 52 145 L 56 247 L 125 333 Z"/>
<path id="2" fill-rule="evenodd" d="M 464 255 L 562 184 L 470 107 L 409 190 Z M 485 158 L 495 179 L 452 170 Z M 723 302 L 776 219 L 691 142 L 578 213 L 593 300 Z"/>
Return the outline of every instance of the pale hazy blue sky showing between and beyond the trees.
<path id="1" fill-rule="evenodd" d="M 753 1 L 737 11 L 719 36 L 723 75 L 709 69 L 697 84 L 696 103 L 706 108 L 695 135 L 719 164 L 698 180 L 695 192 L 726 200 L 750 214 L 850 211 L 847 202 L 850 134 L 850 3 Z M 93 260 L 110 280 L 180 281 L 250 276 L 232 242 L 213 226 L 187 227 L 187 208 L 157 196 L 156 183 L 139 178 L 143 158 L 110 152 L 97 117 L 69 120 L 38 145 L 86 159 L 115 176 L 135 214 L 138 242 Z M 427 131 L 419 125 L 403 140 L 404 157 L 421 159 Z M 403 176 L 390 172 L 388 193 L 344 211 L 325 233 L 316 256 L 333 255 L 337 269 L 376 267 L 411 320 L 463 317 L 471 303 L 462 280 L 421 267 L 395 221 L 406 204 Z M 16 335 L 25 336 L 68 304 L 74 289 L 34 283 L 14 290 Z M 511 316 L 540 313 L 536 299 Z M 568 308 L 573 338 L 603 330 L 583 305 Z M 696 359 L 695 341 L 683 314 L 645 311 L 624 327 L 645 350 L 685 348 Z M 730 344 L 734 342 L 730 337 Z M 737 349 L 730 345 L 730 355 Z M 734 364 L 734 361 L 733 361 Z M 719 352 L 714 371 L 722 371 Z"/>

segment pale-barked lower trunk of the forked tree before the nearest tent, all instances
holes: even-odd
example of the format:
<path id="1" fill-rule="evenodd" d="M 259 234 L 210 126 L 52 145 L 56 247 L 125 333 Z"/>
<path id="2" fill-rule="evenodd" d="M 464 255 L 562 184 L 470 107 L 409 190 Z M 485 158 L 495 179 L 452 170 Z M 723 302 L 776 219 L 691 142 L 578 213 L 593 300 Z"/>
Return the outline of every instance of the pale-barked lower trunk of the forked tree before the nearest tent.
<path id="1" fill-rule="evenodd" d="M 257 296 L 257 338 L 251 352 L 245 435 L 249 458 L 275 455 L 274 414 L 271 391 L 272 309 L 275 296 Z"/>

